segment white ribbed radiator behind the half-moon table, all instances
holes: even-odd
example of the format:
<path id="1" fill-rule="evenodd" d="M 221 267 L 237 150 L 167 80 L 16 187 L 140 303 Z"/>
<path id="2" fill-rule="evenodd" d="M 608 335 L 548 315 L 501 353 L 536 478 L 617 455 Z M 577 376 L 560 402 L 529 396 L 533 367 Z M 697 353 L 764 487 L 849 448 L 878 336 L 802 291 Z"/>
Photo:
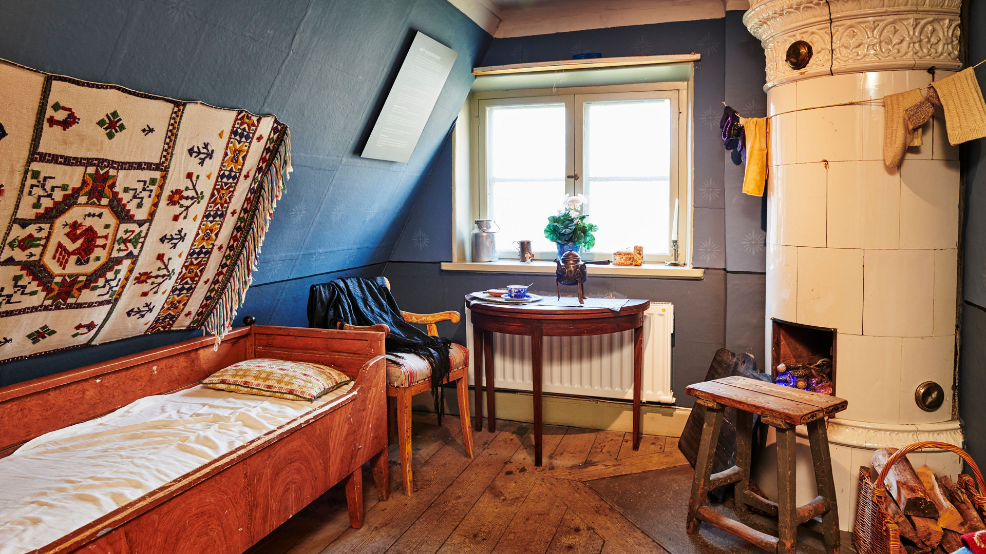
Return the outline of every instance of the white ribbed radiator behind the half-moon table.
<path id="1" fill-rule="evenodd" d="M 465 311 L 467 346 L 472 318 Z M 644 368 L 641 398 L 671 404 L 671 333 L 674 307 L 652 302 L 644 312 Z M 633 399 L 633 331 L 584 337 L 544 337 L 544 392 Z M 472 351 L 470 350 L 470 356 Z M 470 362 L 469 384 L 473 384 Z M 493 333 L 493 370 L 498 389 L 532 390 L 530 337 Z"/>

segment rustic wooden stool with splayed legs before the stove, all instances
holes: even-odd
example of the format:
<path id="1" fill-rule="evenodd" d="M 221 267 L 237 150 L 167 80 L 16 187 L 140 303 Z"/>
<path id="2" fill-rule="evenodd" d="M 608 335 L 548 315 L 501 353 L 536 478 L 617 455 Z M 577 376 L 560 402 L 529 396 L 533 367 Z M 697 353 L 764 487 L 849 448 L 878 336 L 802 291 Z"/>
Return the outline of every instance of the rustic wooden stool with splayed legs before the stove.
<path id="1" fill-rule="evenodd" d="M 695 479 L 688 504 L 688 534 L 695 534 L 701 521 L 735 534 L 768 552 L 795 554 L 798 525 L 807 523 L 821 533 L 825 551 L 839 551 L 839 517 L 832 480 L 832 460 L 828 451 L 825 416 L 846 409 L 842 398 L 781 386 L 742 377 L 728 377 L 688 386 L 685 391 L 705 406 L 705 425 L 695 462 Z M 719 441 L 719 429 L 727 406 L 737 409 L 737 463 L 712 474 L 712 462 Z M 753 415 L 777 431 L 777 496 L 775 504 L 747 490 L 750 474 L 750 448 Z M 818 496 L 805 506 L 795 505 L 795 429 L 808 424 L 811 458 Z M 760 532 L 736 519 L 726 518 L 705 506 L 710 490 L 734 485 L 737 517 L 746 519 L 747 505 L 778 519 L 778 536 Z"/>

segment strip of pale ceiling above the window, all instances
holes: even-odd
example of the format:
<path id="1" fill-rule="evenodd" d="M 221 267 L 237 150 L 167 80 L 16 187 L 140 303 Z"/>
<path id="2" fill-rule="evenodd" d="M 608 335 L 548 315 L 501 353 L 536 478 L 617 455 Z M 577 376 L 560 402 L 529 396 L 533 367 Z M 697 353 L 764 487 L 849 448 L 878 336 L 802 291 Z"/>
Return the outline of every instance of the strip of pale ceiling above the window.
<path id="1" fill-rule="evenodd" d="M 717 19 L 748 0 L 449 0 L 490 35 L 547 35 Z"/>

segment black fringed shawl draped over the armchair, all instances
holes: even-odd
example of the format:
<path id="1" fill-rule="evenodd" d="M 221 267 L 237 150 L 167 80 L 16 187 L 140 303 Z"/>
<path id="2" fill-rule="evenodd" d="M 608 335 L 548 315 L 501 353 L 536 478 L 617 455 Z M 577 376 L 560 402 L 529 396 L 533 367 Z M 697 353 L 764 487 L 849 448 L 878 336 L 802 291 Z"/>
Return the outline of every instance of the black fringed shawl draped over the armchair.
<path id="1" fill-rule="evenodd" d="M 312 285 L 309 291 L 309 326 L 322 329 L 338 328 L 338 323 L 376 325 L 387 323 L 387 352 L 417 354 L 428 360 L 432 368 L 432 396 L 435 412 L 442 421 L 444 393 L 442 382 L 452 370 L 447 338 L 429 336 L 418 327 L 404 321 L 397 302 L 387 289 L 383 277 L 342 277 L 328 283 Z"/>

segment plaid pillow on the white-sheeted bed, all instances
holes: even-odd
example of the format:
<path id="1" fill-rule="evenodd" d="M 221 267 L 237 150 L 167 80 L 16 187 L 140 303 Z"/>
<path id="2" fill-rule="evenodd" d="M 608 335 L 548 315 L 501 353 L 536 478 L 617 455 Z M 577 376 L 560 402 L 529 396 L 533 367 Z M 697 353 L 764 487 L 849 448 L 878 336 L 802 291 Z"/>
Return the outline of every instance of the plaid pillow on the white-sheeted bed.
<path id="1" fill-rule="evenodd" d="M 328 366 L 254 358 L 237 362 L 199 382 L 219 390 L 288 400 L 315 400 L 349 381 L 353 380 Z"/>

